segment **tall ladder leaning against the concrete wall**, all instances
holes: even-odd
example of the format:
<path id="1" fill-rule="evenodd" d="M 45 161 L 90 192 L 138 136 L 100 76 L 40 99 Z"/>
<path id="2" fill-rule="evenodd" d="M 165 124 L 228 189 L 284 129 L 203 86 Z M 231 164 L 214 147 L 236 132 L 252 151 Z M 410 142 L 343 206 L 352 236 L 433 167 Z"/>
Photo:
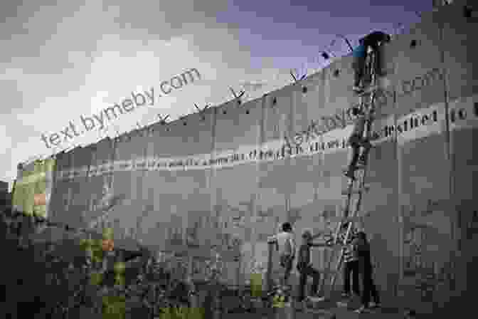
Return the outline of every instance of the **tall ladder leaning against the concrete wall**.
<path id="1" fill-rule="evenodd" d="M 368 54 L 366 60 L 366 76 L 368 78 L 368 85 L 365 90 L 359 93 L 360 107 L 365 110 L 366 127 L 364 137 L 366 140 L 371 140 L 371 128 L 373 122 L 373 113 L 375 112 L 376 103 L 376 53 L 372 52 Z M 367 155 L 368 157 L 368 155 Z M 366 158 L 365 165 L 356 165 L 354 175 L 355 179 L 349 178 L 347 189 L 342 192 L 342 195 L 346 197 L 346 204 L 344 208 L 344 218 L 339 220 L 336 226 L 336 231 L 331 241 L 329 241 L 329 247 L 331 251 L 329 253 L 328 261 L 326 261 L 326 270 L 324 276 L 322 276 L 321 294 L 326 298 L 331 298 L 331 294 L 334 292 L 334 286 L 336 278 L 341 273 L 341 268 L 344 264 L 344 255 L 346 250 L 346 244 L 351 241 L 351 234 L 354 230 L 354 222 L 360 215 L 361 203 L 363 193 L 368 191 L 368 186 L 365 184 L 366 175 L 368 171 L 368 158 Z M 355 205 L 354 205 L 355 204 Z M 351 207 L 354 207 L 351 211 Z M 351 212 L 351 214 L 350 214 Z M 342 228 L 344 224 L 348 223 L 345 234 L 343 234 Z M 339 256 L 337 258 L 337 253 Z M 331 265 L 335 260 L 334 270 L 331 270 Z M 326 276 L 326 275 L 329 276 Z M 326 291 L 326 284 L 329 282 L 329 291 Z"/>

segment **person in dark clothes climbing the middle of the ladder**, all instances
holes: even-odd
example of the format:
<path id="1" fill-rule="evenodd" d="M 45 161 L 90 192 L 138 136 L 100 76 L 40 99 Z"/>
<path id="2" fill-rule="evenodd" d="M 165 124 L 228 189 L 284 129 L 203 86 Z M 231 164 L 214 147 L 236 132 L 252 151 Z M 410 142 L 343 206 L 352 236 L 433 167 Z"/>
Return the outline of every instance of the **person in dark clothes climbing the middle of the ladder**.
<path id="1" fill-rule="evenodd" d="M 356 122 L 354 123 L 354 130 L 349 137 L 349 144 L 352 147 L 352 157 L 349 164 L 349 169 L 345 173 L 345 176 L 355 179 L 354 171 L 356 169 L 356 165 L 357 163 L 361 165 L 366 164 L 368 152 L 370 151 L 372 145 L 370 141 L 363 137 L 363 130 L 365 130 L 367 121 L 365 111 L 362 108 L 353 108 L 352 114 L 356 116 Z M 363 147 L 362 155 L 360 155 L 361 147 Z"/>

